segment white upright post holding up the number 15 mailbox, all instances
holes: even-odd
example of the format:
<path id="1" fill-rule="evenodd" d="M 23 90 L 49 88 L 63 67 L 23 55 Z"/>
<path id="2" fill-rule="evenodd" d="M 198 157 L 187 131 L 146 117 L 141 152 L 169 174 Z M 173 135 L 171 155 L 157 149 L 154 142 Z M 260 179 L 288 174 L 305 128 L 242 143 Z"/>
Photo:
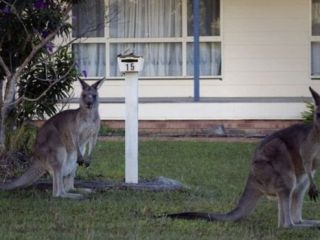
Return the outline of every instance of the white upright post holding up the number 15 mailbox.
<path id="1" fill-rule="evenodd" d="M 125 181 L 138 183 L 138 72 L 125 73 Z"/>

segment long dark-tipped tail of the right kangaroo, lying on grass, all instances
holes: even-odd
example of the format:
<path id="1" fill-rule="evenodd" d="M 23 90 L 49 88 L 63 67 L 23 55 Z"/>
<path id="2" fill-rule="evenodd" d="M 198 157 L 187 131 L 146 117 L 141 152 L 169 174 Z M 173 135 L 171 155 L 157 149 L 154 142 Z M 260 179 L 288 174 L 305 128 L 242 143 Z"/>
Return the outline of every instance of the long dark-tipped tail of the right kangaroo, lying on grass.
<path id="1" fill-rule="evenodd" d="M 181 212 L 167 214 L 166 217 L 174 219 L 203 219 L 207 221 L 237 221 L 248 216 L 255 208 L 262 193 L 252 184 L 249 176 L 246 187 L 240 197 L 237 206 L 228 213 L 206 213 L 206 212 Z"/>

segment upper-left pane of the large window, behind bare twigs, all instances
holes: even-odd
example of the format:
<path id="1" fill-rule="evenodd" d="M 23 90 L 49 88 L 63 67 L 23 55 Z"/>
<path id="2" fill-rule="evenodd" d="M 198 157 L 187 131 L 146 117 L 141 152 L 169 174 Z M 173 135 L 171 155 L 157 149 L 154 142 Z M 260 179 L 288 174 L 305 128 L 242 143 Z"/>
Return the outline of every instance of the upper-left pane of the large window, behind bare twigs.
<path id="1" fill-rule="evenodd" d="M 104 36 L 104 0 L 86 0 L 72 7 L 73 37 Z"/>

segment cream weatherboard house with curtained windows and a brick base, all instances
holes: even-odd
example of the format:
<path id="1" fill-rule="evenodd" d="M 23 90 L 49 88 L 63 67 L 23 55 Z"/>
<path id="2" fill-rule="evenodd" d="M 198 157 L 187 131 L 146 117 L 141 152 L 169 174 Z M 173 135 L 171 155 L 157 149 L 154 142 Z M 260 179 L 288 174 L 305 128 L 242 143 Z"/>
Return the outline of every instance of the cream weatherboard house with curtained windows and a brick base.
<path id="1" fill-rule="evenodd" d="M 308 86 L 320 91 L 320 0 L 96 0 L 72 16 L 79 69 L 107 79 L 100 112 L 111 127 L 124 120 L 120 53 L 144 57 L 141 131 L 265 133 L 301 119 Z"/>

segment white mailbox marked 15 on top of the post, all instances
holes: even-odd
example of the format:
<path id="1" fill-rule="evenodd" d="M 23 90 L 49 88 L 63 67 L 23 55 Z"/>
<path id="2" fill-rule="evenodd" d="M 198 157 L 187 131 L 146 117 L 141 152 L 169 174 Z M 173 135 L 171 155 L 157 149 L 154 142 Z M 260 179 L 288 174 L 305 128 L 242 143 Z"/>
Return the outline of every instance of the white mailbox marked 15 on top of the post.
<path id="1" fill-rule="evenodd" d="M 118 55 L 118 66 L 121 73 L 140 72 L 143 68 L 143 58 L 134 54 Z"/>

